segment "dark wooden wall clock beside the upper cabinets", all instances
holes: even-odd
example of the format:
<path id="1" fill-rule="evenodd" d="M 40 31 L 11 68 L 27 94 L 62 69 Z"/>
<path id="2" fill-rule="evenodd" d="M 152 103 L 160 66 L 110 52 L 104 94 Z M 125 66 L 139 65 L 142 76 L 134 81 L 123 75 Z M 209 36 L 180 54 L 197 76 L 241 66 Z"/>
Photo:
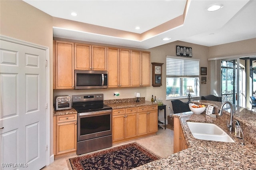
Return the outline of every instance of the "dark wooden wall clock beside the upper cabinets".
<path id="1" fill-rule="evenodd" d="M 162 65 L 164 63 L 152 63 L 152 86 L 160 87 L 162 85 Z"/>

